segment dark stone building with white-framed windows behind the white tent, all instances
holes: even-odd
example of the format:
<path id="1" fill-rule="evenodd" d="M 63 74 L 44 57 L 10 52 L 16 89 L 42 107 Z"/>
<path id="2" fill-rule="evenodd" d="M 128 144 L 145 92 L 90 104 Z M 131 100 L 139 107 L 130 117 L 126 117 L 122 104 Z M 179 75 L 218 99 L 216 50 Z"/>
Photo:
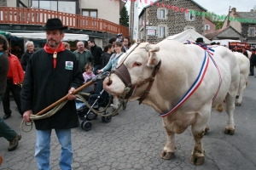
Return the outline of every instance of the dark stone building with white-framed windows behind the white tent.
<path id="1" fill-rule="evenodd" d="M 159 6 L 156 5 L 157 3 Z M 165 4 L 164 7 L 162 4 Z M 167 8 L 167 5 L 170 8 Z M 178 7 L 178 11 L 176 8 L 173 10 L 172 6 Z M 183 12 L 181 12 L 181 8 L 184 9 Z M 186 13 L 187 8 L 196 13 Z M 158 0 L 153 6 L 144 7 L 139 14 L 138 37 L 147 42 L 160 42 L 168 36 L 187 29 L 193 29 L 204 35 L 205 17 L 202 17 L 201 13 L 206 11 L 206 8 L 201 7 L 193 0 Z"/>

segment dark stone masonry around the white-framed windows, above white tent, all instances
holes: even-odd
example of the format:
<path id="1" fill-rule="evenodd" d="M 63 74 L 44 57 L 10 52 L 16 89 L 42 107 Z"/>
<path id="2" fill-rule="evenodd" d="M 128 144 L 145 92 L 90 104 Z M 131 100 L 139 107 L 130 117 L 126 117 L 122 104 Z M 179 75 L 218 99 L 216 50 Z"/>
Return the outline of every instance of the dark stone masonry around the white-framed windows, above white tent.
<path id="1" fill-rule="evenodd" d="M 159 3 L 166 3 L 166 0 L 160 0 Z M 201 16 L 195 16 L 195 20 L 189 21 L 185 20 L 184 13 L 180 12 L 180 9 L 178 12 L 175 10 L 172 10 L 172 5 L 175 7 L 180 8 L 189 8 L 195 11 L 202 12 L 203 9 L 199 7 L 197 4 L 195 4 L 192 1 L 188 0 L 170 0 L 168 1 L 171 8 L 166 8 L 166 19 L 160 20 L 157 18 L 157 10 L 158 8 L 161 8 L 160 6 L 157 7 L 154 3 L 154 6 L 149 6 L 146 10 L 146 23 L 149 25 L 146 26 L 166 26 L 166 37 L 175 35 L 177 33 L 180 33 L 184 31 L 185 27 L 194 27 L 195 31 L 200 33 L 201 35 L 204 34 L 204 17 Z M 144 12 L 145 13 L 145 12 Z M 141 15 L 143 17 L 143 20 L 145 19 L 144 14 Z M 139 23 L 139 28 L 142 27 L 142 23 Z M 156 31 L 158 32 L 158 31 Z M 140 35 L 140 33 L 139 33 Z M 140 37 L 140 36 L 139 36 Z M 146 39 L 148 42 L 160 42 L 166 37 L 158 37 L 157 33 L 156 36 L 147 36 Z"/>

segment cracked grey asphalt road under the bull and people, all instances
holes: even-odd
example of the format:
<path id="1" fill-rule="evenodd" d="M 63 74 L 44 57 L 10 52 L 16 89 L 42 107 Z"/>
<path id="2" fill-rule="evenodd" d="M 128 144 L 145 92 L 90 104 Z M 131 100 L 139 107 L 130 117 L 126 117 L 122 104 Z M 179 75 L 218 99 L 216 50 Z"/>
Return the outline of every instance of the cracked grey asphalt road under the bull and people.
<path id="1" fill-rule="evenodd" d="M 202 139 L 205 163 L 195 166 L 189 163 L 194 146 L 190 127 L 176 135 L 177 150 L 171 160 L 160 158 L 166 144 L 166 131 L 161 118 L 147 105 L 128 103 L 125 111 L 119 111 L 112 122 L 105 123 L 101 117 L 92 121 L 92 129 L 85 132 L 80 127 L 72 130 L 73 169 L 211 169 L 211 170 L 255 170 L 256 169 L 256 77 L 249 77 L 243 103 L 236 106 L 236 131 L 233 136 L 224 134 L 227 121 L 225 112 L 212 110 L 210 131 Z M 11 102 L 12 116 L 6 120 L 10 127 L 21 133 L 22 139 L 15 151 L 9 152 L 9 143 L 0 138 L 0 154 L 3 164 L 0 169 L 34 170 L 35 128 L 29 133 L 20 129 L 22 118 Z M 3 116 L 3 106 L 0 106 Z M 60 169 L 61 145 L 52 133 L 50 166 Z"/>

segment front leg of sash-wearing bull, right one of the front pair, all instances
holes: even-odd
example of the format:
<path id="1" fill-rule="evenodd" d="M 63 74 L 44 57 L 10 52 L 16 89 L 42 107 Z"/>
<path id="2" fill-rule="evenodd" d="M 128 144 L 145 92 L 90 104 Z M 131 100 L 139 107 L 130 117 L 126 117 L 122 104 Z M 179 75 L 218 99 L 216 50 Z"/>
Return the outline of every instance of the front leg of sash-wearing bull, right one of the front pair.
<path id="1" fill-rule="evenodd" d="M 191 127 L 192 134 L 195 139 L 195 146 L 190 156 L 189 162 L 193 165 L 202 165 L 205 161 L 204 150 L 201 139 L 204 136 L 205 129 L 201 123 L 195 123 Z"/>

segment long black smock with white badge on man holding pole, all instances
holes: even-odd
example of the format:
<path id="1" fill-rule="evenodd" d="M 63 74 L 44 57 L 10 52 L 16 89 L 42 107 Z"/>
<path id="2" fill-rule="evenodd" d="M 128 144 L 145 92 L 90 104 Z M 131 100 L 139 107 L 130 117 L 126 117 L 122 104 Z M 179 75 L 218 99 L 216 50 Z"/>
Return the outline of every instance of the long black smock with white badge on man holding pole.
<path id="1" fill-rule="evenodd" d="M 69 50 L 57 54 L 53 68 L 53 54 L 44 49 L 32 55 L 26 66 L 26 75 L 21 89 L 21 110 L 32 110 L 33 114 L 66 96 L 70 88 L 79 88 L 84 77 L 79 61 Z M 67 101 L 60 111 L 48 118 L 34 121 L 38 130 L 52 128 L 68 129 L 79 126 L 75 101 Z"/>

